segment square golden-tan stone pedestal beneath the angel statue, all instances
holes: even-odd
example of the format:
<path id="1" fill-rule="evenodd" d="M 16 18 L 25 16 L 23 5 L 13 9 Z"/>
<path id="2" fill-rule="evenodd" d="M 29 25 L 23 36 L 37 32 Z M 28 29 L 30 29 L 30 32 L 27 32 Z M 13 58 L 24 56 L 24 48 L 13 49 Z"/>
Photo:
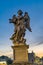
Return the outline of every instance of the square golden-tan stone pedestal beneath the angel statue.
<path id="1" fill-rule="evenodd" d="M 13 64 L 25 64 L 28 63 L 28 45 L 24 44 L 17 44 L 15 46 L 12 46 L 13 48 Z"/>

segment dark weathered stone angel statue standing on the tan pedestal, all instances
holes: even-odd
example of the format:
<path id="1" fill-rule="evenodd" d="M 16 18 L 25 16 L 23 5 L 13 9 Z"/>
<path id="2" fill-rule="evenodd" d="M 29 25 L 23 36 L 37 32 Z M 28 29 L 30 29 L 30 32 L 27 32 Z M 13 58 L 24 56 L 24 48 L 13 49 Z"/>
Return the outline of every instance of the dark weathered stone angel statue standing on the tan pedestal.
<path id="1" fill-rule="evenodd" d="M 26 39 L 24 39 L 26 28 L 32 32 L 31 27 L 30 27 L 30 17 L 27 12 L 23 14 L 22 10 L 19 10 L 18 16 L 13 15 L 12 19 L 9 19 L 10 23 L 14 24 L 14 34 L 10 38 L 13 40 L 13 43 L 20 44 L 26 43 Z"/>

